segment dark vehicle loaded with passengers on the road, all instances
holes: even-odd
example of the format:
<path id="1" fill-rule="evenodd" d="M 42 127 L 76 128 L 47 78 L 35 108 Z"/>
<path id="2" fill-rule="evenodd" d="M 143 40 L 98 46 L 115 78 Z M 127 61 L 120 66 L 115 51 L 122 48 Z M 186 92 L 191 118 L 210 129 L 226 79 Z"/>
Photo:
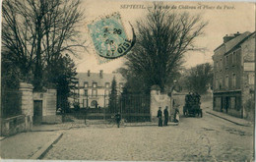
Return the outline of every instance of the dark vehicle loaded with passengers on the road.
<path id="1" fill-rule="evenodd" d="M 200 108 L 200 95 L 199 94 L 187 94 L 185 97 L 185 105 L 183 106 L 183 115 L 188 116 L 200 116 L 203 117 L 203 111 Z"/>

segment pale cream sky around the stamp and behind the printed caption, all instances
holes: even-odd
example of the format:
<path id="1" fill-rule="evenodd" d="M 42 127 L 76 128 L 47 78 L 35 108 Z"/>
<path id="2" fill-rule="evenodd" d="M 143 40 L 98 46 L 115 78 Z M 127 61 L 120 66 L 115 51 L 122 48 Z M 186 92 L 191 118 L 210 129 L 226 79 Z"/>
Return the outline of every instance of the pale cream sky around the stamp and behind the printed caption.
<path id="1" fill-rule="evenodd" d="M 133 9 L 130 5 L 137 5 Z M 139 5 L 139 6 L 138 6 Z M 111 73 L 123 67 L 125 59 L 123 57 L 111 60 L 104 64 L 98 64 L 94 44 L 89 35 L 87 25 L 101 17 L 119 12 L 122 23 L 128 36 L 131 36 L 129 22 L 135 26 L 135 22 L 144 19 L 147 8 L 152 6 L 150 1 L 131 1 L 131 0 L 82 0 L 82 8 L 85 9 L 86 19 L 81 28 L 83 36 L 87 39 L 88 50 L 81 51 L 79 58 L 75 59 L 77 72 L 99 72 Z M 245 32 L 255 30 L 255 4 L 250 2 L 164 2 L 169 7 L 176 6 L 173 12 L 189 12 L 190 14 L 200 14 L 204 21 L 209 25 L 205 27 L 205 34 L 198 37 L 195 45 L 206 48 L 204 52 L 188 52 L 185 54 L 185 68 L 191 68 L 197 64 L 212 62 L 214 49 L 223 43 L 225 34 Z"/>

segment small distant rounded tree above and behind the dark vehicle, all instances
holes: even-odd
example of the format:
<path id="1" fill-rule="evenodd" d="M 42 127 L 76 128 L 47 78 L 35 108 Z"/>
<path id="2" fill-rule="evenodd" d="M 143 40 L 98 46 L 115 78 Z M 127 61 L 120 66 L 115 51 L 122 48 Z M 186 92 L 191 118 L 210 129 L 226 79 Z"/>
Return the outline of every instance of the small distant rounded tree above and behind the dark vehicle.
<path id="1" fill-rule="evenodd" d="M 188 71 L 185 84 L 189 90 L 204 94 L 207 92 L 209 85 L 213 85 L 213 78 L 214 73 L 211 64 L 200 64 Z"/>

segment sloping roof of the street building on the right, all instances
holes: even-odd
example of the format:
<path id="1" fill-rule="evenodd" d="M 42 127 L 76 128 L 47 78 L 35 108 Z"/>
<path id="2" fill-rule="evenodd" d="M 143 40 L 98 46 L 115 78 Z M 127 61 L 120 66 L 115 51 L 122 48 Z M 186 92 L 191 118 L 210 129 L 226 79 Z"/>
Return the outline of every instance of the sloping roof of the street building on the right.
<path id="1" fill-rule="evenodd" d="M 250 34 L 251 34 L 251 32 L 249 32 L 249 31 L 243 32 L 239 36 L 236 36 L 236 37 L 232 38 L 231 40 L 221 44 L 214 51 L 217 51 L 221 47 L 224 47 L 224 51 L 225 51 L 224 53 L 227 53 L 230 50 L 232 50 L 234 47 L 236 47 L 238 43 L 240 43 L 244 39 L 248 38 L 248 35 L 250 35 Z"/>

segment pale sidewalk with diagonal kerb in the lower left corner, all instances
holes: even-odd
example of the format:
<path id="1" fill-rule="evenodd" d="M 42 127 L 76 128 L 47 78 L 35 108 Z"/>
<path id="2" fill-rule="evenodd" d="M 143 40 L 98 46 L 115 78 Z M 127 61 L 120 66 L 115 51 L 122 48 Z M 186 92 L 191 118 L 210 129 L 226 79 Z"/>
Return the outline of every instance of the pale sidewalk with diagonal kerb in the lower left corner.
<path id="1" fill-rule="evenodd" d="M 59 132 L 28 132 L 0 141 L 1 159 L 39 159 L 62 136 Z"/>

